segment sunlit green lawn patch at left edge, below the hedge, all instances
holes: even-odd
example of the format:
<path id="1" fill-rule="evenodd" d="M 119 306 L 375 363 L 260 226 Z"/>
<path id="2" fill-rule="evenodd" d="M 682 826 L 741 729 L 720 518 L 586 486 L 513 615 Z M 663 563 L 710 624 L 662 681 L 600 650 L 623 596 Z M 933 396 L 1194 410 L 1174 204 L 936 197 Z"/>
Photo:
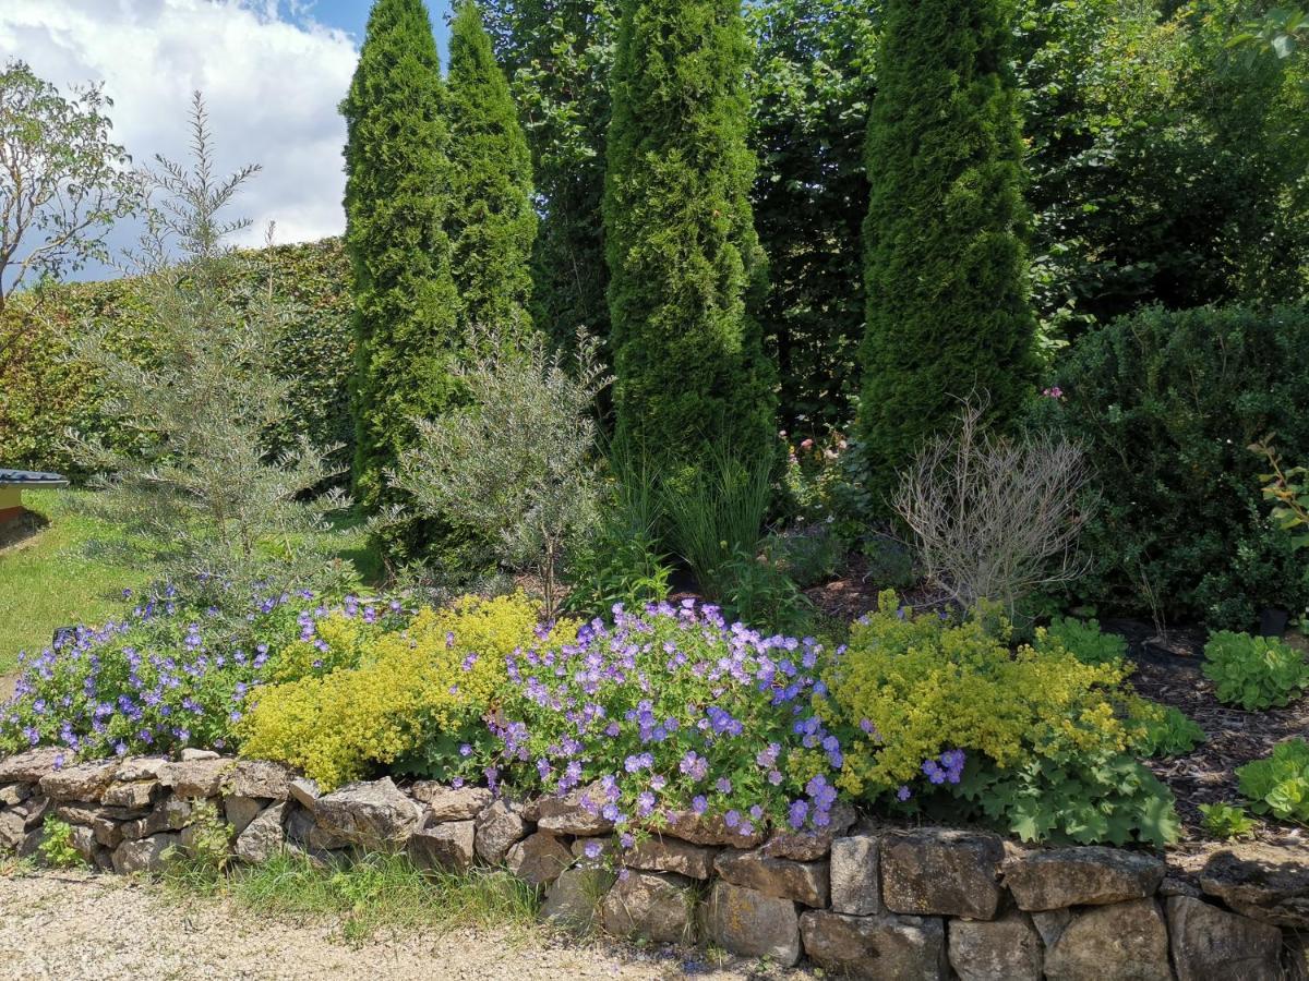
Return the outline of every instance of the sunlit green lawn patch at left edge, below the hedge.
<path id="1" fill-rule="evenodd" d="M 92 539 L 120 539 L 111 525 L 81 513 L 86 490 L 27 490 L 24 502 L 50 525 L 0 551 L 0 675 L 20 650 L 41 650 L 58 627 L 98 624 L 123 612 L 123 590 L 149 585 L 145 564 L 89 555 Z"/>

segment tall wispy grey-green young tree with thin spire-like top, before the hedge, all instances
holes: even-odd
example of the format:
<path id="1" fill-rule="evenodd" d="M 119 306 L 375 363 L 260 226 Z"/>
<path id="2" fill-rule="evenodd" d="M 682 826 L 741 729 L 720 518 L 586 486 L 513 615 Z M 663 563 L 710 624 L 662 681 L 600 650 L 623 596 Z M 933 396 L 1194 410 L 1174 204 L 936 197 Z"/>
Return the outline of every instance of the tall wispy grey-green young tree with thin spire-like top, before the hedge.
<path id="1" fill-rule="evenodd" d="M 352 570 L 326 561 L 314 536 L 344 506 L 339 493 L 310 493 L 332 473 L 323 451 L 308 439 L 278 456 L 264 450 L 288 412 L 275 364 L 289 311 L 237 272 L 247 256 L 225 235 L 246 222 L 224 218 L 258 167 L 216 178 L 199 97 L 190 122 L 190 169 L 161 160 L 148 175 L 160 204 L 137 260 L 152 357 L 136 364 L 99 332 L 76 348 L 115 392 L 101 411 L 140 439 L 122 449 L 81 434 L 76 453 L 109 475 L 97 509 L 140 535 L 177 581 L 212 577 L 242 593 L 348 581 Z"/>

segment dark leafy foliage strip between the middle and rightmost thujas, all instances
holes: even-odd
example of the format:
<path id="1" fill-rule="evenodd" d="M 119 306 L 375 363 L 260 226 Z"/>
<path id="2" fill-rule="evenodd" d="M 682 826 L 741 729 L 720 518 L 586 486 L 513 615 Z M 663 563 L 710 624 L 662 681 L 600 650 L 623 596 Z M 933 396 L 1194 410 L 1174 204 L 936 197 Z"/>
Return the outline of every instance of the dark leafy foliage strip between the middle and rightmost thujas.
<path id="1" fill-rule="evenodd" d="M 859 391 L 860 222 L 868 211 L 864 141 L 877 7 L 861 0 L 745 7 L 755 42 L 754 217 L 772 281 L 759 320 L 779 369 L 781 422 L 797 438 L 844 425 Z"/>

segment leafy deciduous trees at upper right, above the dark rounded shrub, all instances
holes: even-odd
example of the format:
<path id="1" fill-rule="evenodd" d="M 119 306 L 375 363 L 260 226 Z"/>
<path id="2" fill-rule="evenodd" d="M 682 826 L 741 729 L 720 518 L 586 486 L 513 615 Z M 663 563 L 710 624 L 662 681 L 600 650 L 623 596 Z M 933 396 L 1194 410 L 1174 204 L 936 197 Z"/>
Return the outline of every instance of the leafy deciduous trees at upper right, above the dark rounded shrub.
<path id="1" fill-rule="evenodd" d="M 1244 0 L 1024 0 L 1034 301 L 1075 339 L 1143 305 L 1304 292 L 1304 68 L 1245 63 Z"/>

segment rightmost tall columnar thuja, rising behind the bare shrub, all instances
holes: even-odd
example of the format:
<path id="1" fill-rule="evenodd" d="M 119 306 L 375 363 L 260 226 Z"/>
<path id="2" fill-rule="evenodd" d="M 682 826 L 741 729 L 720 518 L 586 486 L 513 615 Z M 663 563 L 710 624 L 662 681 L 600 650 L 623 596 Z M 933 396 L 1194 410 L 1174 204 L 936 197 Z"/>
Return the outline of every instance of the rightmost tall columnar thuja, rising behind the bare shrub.
<path id="1" fill-rule="evenodd" d="M 872 182 L 860 429 L 874 506 L 977 392 L 991 421 L 1035 374 L 1022 144 L 1000 0 L 888 0 Z"/>

